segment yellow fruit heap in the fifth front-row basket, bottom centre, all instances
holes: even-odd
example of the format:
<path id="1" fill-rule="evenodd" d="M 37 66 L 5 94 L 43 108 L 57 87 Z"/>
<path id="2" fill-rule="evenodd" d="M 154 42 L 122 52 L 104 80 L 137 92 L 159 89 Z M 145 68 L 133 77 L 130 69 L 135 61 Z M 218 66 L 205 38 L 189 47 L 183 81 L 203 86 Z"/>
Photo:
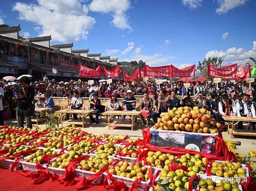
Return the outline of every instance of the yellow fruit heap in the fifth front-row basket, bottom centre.
<path id="1" fill-rule="evenodd" d="M 154 169 L 152 169 L 154 171 Z M 149 179 L 149 171 L 147 167 L 142 166 L 141 161 L 128 163 L 126 161 L 119 161 L 116 166 L 110 165 L 109 172 L 113 175 L 126 177 L 126 178 L 142 178 L 143 181 Z"/>

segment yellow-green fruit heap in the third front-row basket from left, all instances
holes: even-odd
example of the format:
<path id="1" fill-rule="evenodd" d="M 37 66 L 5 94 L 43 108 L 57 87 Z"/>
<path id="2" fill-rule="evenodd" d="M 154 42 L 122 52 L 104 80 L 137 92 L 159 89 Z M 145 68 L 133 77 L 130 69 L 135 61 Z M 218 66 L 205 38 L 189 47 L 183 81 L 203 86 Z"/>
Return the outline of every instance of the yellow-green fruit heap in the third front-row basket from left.
<path id="1" fill-rule="evenodd" d="M 65 167 L 67 167 L 72 160 L 81 156 L 82 153 L 79 151 L 70 151 L 68 153 L 64 153 L 60 157 L 56 158 L 56 161 L 49 164 L 49 167 L 65 169 Z"/>

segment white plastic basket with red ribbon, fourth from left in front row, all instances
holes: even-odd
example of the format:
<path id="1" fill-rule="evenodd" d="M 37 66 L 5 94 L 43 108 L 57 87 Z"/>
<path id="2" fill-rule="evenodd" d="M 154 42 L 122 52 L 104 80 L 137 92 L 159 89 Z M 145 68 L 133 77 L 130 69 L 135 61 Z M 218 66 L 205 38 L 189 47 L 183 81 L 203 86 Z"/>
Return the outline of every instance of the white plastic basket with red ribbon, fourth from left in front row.
<path id="1" fill-rule="evenodd" d="M 85 155 L 88 155 L 88 154 L 85 154 Z M 91 155 L 96 156 L 96 154 L 89 154 L 89 156 L 91 156 Z M 112 156 L 108 156 L 108 158 L 114 158 L 114 159 L 118 160 L 118 158 L 112 157 Z M 86 160 L 88 160 L 88 159 L 86 159 Z M 79 166 L 79 164 L 77 164 L 76 166 Z M 75 174 L 79 178 L 85 177 L 86 179 L 88 179 L 92 175 L 96 174 L 96 172 L 90 172 L 90 171 L 75 169 Z M 102 173 L 98 178 L 96 178 L 94 181 L 92 181 L 92 183 L 96 184 L 96 185 L 100 185 L 100 184 L 102 184 L 104 178 L 105 178 L 105 174 Z"/>

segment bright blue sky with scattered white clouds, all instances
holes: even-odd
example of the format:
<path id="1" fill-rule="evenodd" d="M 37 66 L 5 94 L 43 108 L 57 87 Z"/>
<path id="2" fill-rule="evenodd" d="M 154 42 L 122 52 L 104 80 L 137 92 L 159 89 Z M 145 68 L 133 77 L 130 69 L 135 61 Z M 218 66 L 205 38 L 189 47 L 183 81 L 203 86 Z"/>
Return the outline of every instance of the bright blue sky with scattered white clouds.
<path id="1" fill-rule="evenodd" d="M 255 7 L 254 0 L 9 0 L 0 23 L 119 61 L 184 68 L 209 56 L 243 64 L 256 57 Z"/>

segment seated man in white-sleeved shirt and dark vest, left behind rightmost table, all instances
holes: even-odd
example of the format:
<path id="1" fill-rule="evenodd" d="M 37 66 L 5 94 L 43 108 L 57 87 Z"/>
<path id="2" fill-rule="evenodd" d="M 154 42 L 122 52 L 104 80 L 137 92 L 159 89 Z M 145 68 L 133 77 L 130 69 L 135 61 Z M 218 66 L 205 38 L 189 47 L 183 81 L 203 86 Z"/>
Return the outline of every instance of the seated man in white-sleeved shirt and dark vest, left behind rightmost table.
<path id="1" fill-rule="evenodd" d="M 222 101 L 219 102 L 219 114 L 221 115 L 220 120 L 223 128 L 222 132 L 227 131 L 225 120 L 222 118 L 222 116 L 229 116 L 231 111 L 233 113 L 237 113 L 236 104 L 234 103 L 234 100 L 229 99 L 228 94 L 223 94 Z"/>

